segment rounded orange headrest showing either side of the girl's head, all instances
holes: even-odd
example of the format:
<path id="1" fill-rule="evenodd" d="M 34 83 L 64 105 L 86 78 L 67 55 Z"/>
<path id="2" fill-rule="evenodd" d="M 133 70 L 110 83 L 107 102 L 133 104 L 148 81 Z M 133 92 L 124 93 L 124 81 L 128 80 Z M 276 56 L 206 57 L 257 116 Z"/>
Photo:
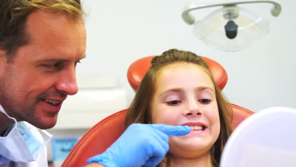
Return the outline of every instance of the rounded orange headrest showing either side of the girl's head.
<path id="1" fill-rule="evenodd" d="M 140 58 L 134 61 L 128 67 L 127 80 L 133 90 L 136 90 L 137 87 L 139 86 L 143 76 L 152 65 L 151 60 L 154 57 L 155 56 L 147 56 L 147 57 Z M 209 69 L 213 74 L 213 77 L 217 86 L 222 90 L 225 87 L 228 79 L 226 70 L 218 62 L 207 57 L 202 57 L 202 58 L 208 64 Z"/>

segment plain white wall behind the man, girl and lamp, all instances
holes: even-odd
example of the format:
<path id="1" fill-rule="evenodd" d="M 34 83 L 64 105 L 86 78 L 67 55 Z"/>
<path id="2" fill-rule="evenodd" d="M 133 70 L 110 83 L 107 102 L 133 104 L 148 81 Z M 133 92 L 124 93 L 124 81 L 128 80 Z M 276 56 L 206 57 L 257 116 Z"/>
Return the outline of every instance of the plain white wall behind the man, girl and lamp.
<path id="1" fill-rule="evenodd" d="M 271 22 L 271 31 L 261 41 L 237 52 L 215 50 L 193 34 L 193 27 L 181 18 L 191 1 L 178 0 L 85 0 L 87 58 L 77 75 L 115 75 L 117 87 L 124 88 L 130 102 L 134 96 L 126 71 L 130 63 L 171 48 L 193 51 L 219 62 L 228 73 L 224 89 L 234 104 L 253 111 L 272 106 L 296 108 L 296 1 L 281 0 L 279 17 L 270 15 L 270 4 L 241 5 Z M 195 12 L 201 18 L 213 11 Z"/>

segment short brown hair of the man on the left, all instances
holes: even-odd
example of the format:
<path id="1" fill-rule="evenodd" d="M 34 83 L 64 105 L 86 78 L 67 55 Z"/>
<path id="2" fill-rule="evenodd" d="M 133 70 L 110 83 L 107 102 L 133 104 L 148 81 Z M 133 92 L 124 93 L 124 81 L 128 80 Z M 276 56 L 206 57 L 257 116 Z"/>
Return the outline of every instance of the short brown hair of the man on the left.
<path id="1" fill-rule="evenodd" d="M 26 20 L 36 10 L 63 13 L 73 20 L 83 18 L 80 0 L 0 0 L 0 49 L 8 58 L 28 44 Z"/>

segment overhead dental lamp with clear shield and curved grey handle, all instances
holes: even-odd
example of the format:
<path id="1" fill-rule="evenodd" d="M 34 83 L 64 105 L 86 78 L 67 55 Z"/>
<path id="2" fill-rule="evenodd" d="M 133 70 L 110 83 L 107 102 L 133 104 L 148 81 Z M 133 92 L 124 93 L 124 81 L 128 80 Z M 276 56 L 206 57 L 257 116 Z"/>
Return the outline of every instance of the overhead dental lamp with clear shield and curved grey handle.
<path id="1" fill-rule="evenodd" d="M 182 18 L 187 24 L 194 24 L 194 32 L 203 42 L 219 50 L 237 51 L 252 45 L 270 30 L 268 20 L 237 6 L 250 3 L 272 4 L 270 12 L 274 17 L 281 12 L 280 5 L 274 1 L 200 1 L 197 5 L 188 6 L 183 11 Z M 199 21 L 195 21 L 194 16 L 190 13 L 194 10 L 217 6 L 222 6 L 222 8 Z"/>

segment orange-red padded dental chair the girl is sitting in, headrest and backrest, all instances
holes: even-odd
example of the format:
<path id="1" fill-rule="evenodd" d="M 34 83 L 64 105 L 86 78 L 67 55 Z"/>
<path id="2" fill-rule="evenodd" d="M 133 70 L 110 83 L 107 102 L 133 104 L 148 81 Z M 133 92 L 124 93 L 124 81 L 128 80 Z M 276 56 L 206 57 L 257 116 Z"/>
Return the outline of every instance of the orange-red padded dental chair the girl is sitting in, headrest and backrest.
<path id="1" fill-rule="evenodd" d="M 151 66 L 155 56 L 147 56 L 134 61 L 127 70 L 127 79 L 135 91 L 146 71 Z M 208 64 L 214 80 L 222 90 L 227 83 L 225 69 L 216 61 L 202 57 Z M 231 104 L 233 108 L 233 128 L 253 112 L 243 107 Z M 128 109 L 118 111 L 90 128 L 76 143 L 62 166 L 84 166 L 88 158 L 104 152 L 124 131 L 124 120 Z"/>

